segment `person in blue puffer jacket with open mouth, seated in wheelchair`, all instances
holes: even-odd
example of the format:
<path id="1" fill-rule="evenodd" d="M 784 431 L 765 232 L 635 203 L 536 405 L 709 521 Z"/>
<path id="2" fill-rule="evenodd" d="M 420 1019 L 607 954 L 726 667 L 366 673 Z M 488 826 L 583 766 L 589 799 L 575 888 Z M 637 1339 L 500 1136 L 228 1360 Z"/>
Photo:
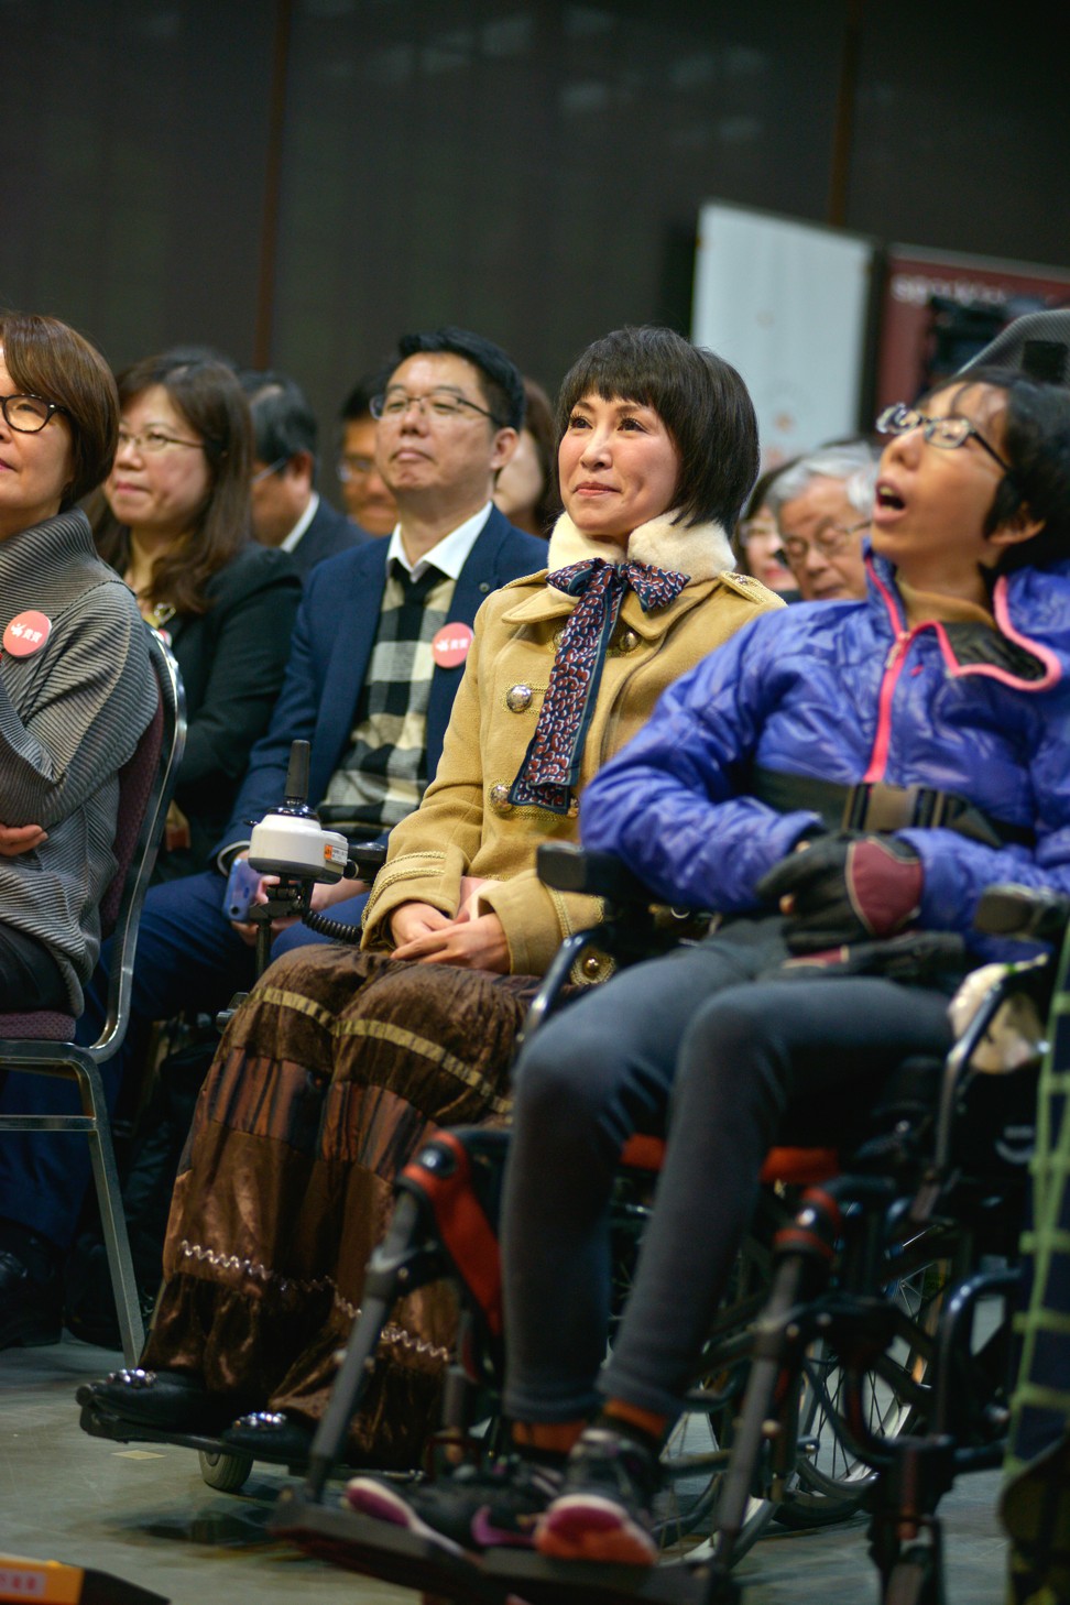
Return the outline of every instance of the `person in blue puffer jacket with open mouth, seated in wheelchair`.
<path id="1" fill-rule="evenodd" d="M 1070 392 L 982 368 L 919 408 L 879 421 L 868 597 L 756 620 L 584 794 L 586 846 L 725 918 L 569 1005 L 520 1058 L 504 1204 L 517 1456 L 404 1497 L 358 1480 L 358 1509 L 446 1546 L 534 1534 L 550 1555 L 650 1563 L 659 1441 L 768 1146 L 834 1140 L 905 1058 L 950 1048 L 950 992 L 998 953 L 972 931 L 983 888 L 1070 892 Z M 930 937 L 934 965 L 892 979 L 889 944 Z M 603 1367 L 618 1156 L 671 1096 Z"/>

